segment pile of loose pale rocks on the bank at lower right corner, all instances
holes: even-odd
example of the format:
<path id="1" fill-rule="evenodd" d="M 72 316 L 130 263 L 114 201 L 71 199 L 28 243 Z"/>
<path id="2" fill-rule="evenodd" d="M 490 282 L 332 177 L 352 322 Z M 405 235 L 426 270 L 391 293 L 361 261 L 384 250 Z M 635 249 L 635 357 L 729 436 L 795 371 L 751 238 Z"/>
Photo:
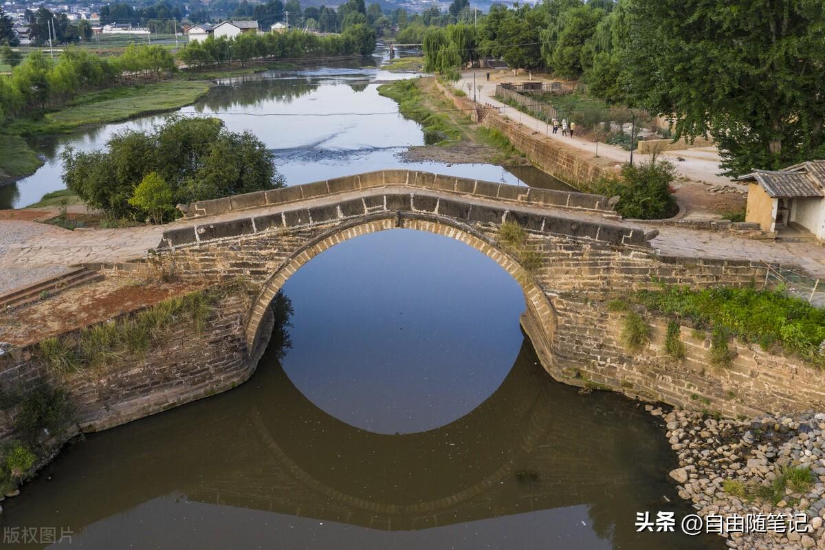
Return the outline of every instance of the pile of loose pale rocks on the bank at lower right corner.
<path id="1" fill-rule="evenodd" d="M 802 532 L 725 533 L 729 548 L 825 550 L 825 414 L 728 420 L 646 408 L 667 425 L 680 465 L 670 475 L 699 515 L 808 516 Z M 807 479 L 794 484 L 790 468 Z"/>

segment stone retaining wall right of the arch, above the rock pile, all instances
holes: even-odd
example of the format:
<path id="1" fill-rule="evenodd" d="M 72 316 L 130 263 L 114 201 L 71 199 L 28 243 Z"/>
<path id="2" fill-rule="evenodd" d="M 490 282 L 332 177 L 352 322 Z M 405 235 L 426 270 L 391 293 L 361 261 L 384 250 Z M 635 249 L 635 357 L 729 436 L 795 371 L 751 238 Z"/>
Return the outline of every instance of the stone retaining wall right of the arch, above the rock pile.
<path id="1" fill-rule="evenodd" d="M 681 327 L 686 356 L 673 360 L 664 353 L 667 318 L 649 312 L 644 317 L 651 341 L 631 355 L 620 343 L 624 316 L 608 312 L 606 302 L 564 295 L 553 303 L 558 324 L 552 342 L 532 336 L 539 331 L 530 311 L 522 327 L 544 368 L 563 383 L 732 417 L 825 406 L 825 372 L 799 359 L 732 340 L 728 346 L 736 357 L 729 366 L 714 367 L 708 359 L 709 337 L 697 340 L 691 328 Z"/>

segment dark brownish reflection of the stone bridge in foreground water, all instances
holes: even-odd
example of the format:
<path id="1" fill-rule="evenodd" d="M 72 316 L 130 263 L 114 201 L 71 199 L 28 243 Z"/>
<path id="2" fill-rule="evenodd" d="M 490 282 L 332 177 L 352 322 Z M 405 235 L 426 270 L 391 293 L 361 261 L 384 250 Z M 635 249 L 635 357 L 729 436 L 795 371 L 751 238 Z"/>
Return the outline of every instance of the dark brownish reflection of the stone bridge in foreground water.
<path id="1" fill-rule="evenodd" d="M 664 482 L 672 467 L 667 456 L 667 443 L 643 411 L 613 394 L 582 397 L 555 383 L 529 341 L 500 388 L 474 411 L 406 435 L 375 434 L 329 416 L 295 388 L 269 350 L 250 383 L 233 392 L 69 449 L 51 467 L 54 481 L 40 478 L 26 488 L 27 498 L 4 503 L 0 521 L 70 525 L 78 541 L 88 527 L 97 533 L 92 548 L 103 548 L 94 542 L 101 531 L 121 534 L 107 522 L 134 526 L 134 516 L 124 524 L 119 512 L 130 517 L 142 503 L 178 492 L 184 501 L 222 510 L 385 531 L 584 505 L 586 527 L 578 512 L 564 533 L 550 529 L 549 536 L 573 538 L 558 548 L 722 548 L 714 538 L 635 532 L 636 511 L 688 513 L 658 501 L 673 496 Z M 163 530 L 163 513 L 153 515 Z M 595 546 L 582 545 L 582 529 Z M 339 542 L 337 548 L 348 548 Z"/>

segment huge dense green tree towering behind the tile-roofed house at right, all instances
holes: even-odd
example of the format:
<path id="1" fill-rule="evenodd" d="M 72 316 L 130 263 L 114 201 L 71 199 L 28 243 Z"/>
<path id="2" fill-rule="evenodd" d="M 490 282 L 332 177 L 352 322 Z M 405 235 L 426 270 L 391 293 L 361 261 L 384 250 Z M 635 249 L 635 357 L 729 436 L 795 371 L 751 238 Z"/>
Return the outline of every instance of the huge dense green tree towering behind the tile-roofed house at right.
<path id="1" fill-rule="evenodd" d="M 728 176 L 825 156 L 825 3 L 628 0 L 623 79 Z"/>

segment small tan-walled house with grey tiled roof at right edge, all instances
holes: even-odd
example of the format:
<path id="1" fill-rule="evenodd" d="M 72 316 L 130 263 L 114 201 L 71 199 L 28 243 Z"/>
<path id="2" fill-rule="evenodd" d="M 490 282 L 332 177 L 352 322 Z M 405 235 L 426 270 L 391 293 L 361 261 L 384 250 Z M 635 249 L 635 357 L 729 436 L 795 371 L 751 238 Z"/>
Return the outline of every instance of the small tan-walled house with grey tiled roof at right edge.
<path id="1" fill-rule="evenodd" d="M 780 237 L 825 238 L 825 160 L 754 170 L 738 181 L 748 184 L 745 221 Z"/>

